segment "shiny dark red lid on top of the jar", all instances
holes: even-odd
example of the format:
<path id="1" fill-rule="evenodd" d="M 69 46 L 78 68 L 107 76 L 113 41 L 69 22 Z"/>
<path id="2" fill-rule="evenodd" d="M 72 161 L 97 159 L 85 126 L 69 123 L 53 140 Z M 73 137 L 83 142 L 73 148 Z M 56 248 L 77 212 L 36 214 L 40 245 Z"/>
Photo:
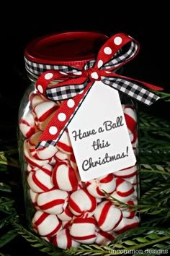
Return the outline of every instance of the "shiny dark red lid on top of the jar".
<path id="1" fill-rule="evenodd" d="M 83 67 L 95 58 L 107 35 L 91 31 L 73 31 L 45 35 L 28 43 L 24 58 L 34 63 Z"/>

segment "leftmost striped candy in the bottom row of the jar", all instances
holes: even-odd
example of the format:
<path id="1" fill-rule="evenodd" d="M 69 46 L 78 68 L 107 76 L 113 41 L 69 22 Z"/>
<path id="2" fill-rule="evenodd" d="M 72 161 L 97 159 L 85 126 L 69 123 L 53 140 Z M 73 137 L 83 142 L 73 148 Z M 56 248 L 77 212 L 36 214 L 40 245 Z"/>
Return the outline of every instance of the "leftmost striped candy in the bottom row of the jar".
<path id="1" fill-rule="evenodd" d="M 32 228 L 40 236 L 54 236 L 61 229 L 61 221 L 54 214 L 43 213 L 37 210 L 32 218 Z"/>

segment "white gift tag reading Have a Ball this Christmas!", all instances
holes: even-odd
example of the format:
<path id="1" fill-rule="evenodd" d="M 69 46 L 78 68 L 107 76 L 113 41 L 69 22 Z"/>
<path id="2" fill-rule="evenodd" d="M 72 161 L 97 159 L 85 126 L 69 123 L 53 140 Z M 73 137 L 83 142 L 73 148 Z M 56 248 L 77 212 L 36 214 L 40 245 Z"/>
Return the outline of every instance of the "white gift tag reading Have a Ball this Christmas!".
<path id="1" fill-rule="evenodd" d="M 101 81 L 94 82 L 68 132 L 83 182 L 136 163 L 119 93 Z"/>

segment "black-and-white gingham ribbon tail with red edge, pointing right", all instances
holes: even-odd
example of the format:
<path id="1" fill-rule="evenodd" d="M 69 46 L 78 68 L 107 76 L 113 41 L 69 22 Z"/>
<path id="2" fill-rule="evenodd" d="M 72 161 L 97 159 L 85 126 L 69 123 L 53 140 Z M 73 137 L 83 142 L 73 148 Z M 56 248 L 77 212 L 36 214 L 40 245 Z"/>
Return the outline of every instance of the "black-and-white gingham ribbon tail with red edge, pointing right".
<path id="1" fill-rule="evenodd" d="M 106 77 L 102 77 L 102 82 L 104 82 L 105 85 L 109 85 L 110 87 L 115 88 L 148 106 L 151 106 L 151 104 L 157 101 L 160 97 L 141 87 L 141 85 L 145 85 L 151 90 L 163 90 L 163 88 L 159 88 L 155 85 L 151 85 L 140 80 L 133 80 L 130 77 L 123 77 L 120 74 L 115 73 L 113 76 L 108 75 Z"/>

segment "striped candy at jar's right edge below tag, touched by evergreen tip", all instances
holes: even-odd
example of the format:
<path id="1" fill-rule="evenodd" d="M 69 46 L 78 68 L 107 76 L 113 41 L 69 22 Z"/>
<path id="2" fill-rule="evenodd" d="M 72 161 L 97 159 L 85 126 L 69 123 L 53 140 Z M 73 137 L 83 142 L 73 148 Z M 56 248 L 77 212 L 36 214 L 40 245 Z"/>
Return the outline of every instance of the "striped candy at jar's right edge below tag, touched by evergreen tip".
<path id="1" fill-rule="evenodd" d="M 127 202 L 134 195 L 135 189 L 133 184 L 125 181 L 125 179 L 116 178 L 116 190 L 111 194 L 117 200 L 121 202 Z"/>

